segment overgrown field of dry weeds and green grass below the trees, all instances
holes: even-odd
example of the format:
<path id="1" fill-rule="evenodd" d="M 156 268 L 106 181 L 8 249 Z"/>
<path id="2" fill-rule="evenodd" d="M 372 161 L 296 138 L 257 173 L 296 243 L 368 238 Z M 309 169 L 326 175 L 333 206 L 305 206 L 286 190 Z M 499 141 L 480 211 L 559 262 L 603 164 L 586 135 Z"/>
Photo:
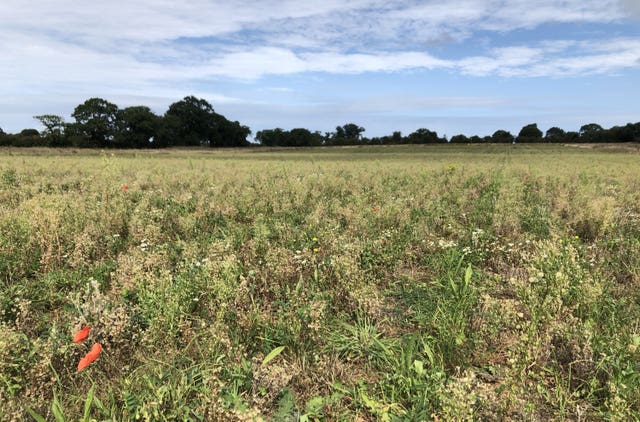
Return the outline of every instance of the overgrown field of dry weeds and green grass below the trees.
<path id="1" fill-rule="evenodd" d="M 0 150 L 0 420 L 640 419 L 638 163 Z"/>

